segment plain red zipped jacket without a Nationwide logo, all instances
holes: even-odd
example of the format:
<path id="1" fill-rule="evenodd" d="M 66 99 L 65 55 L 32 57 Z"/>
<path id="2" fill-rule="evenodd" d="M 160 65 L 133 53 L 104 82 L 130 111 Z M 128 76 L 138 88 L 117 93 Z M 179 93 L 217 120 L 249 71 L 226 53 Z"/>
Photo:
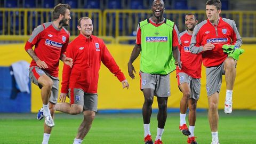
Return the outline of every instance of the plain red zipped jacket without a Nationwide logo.
<path id="1" fill-rule="evenodd" d="M 66 55 L 73 59 L 73 67 L 63 66 L 62 93 L 68 93 L 69 88 L 80 88 L 86 93 L 97 93 L 101 61 L 120 82 L 125 79 L 105 43 L 96 36 L 86 38 L 79 34 L 68 44 Z"/>

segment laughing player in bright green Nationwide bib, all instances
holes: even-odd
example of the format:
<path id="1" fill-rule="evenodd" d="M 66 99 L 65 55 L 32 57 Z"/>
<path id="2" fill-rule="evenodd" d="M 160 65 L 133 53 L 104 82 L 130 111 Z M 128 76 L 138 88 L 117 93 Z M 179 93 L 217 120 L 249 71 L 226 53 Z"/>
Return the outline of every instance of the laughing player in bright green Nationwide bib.
<path id="1" fill-rule="evenodd" d="M 141 91 L 145 102 L 142 107 L 144 123 L 144 141 L 153 143 L 150 133 L 150 117 L 154 95 L 158 102 L 158 127 L 155 144 L 163 143 L 161 138 L 167 117 L 167 99 L 170 92 L 170 73 L 175 70 L 175 63 L 181 67 L 181 44 L 178 28 L 171 20 L 163 16 L 165 7 L 162 0 L 155 0 L 151 7 L 153 16 L 139 22 L 137 40 L 128 62 L 128 72 L 132 79 L 136 73 L 132 63 L 141 52 L 140 77 Z M 134 72 L 134 73 L 133 73 Z"/>

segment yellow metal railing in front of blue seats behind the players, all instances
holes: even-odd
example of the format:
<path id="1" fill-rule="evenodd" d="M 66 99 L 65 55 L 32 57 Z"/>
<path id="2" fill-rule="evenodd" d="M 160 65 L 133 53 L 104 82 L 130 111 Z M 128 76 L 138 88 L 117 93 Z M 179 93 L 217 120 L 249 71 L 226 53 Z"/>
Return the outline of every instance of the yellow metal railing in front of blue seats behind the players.
<path id="1" fill-rule="evenodd" d="M 204 10 L 165 10 L 164 17 L 175 22 L 180 33 L 185 30 L 186 13 L 195 13 L 198 22 L 206 19 Z M 150 18 L 151 10 L 72 9 L 67 29 L 70 39 L 78 35 L 77 21 L 90 17 L 93 35 L 108 43 L 134 44 L 138 23 Z M 243 42 L 256 42 L 256 11 L 221 11 L 221 17 L 233 19 Z M 33 29 L 52 21 L 52 9 L 0 8 L 0 41 L 27 41 Z"/>

